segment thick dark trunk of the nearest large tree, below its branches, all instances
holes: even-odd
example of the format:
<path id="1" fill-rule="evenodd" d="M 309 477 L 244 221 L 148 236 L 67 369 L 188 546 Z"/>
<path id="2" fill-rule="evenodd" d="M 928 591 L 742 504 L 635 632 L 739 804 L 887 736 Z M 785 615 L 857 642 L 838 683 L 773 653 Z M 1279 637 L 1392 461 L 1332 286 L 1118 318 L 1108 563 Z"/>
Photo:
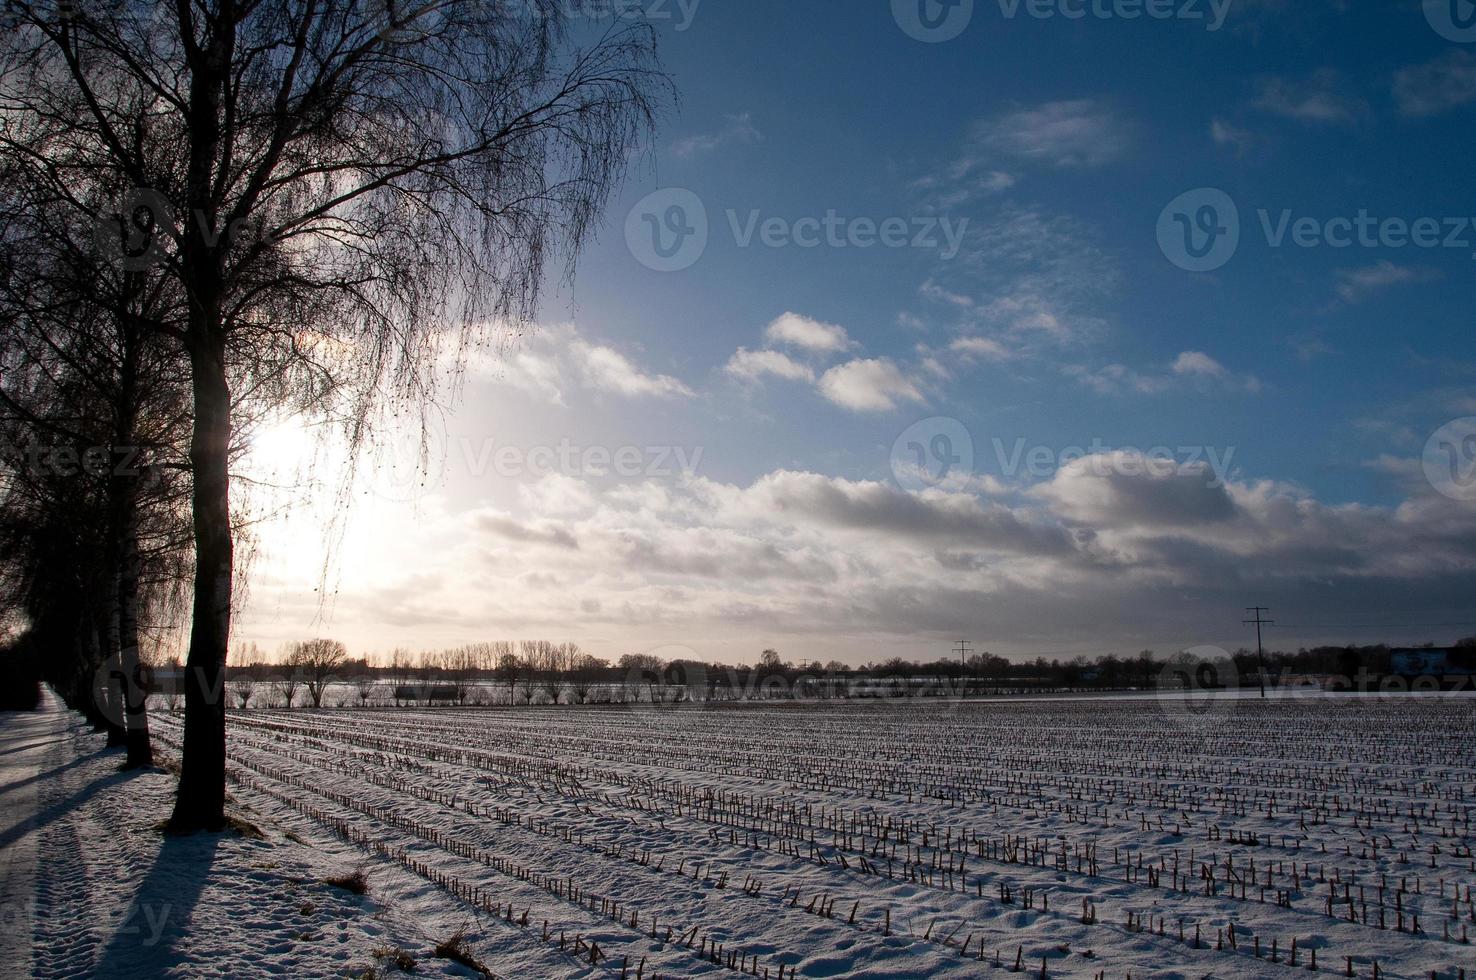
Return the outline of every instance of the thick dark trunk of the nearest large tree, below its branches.
<path id="1" fill-rule="evenodd" d="M 192 335 L 195 432 L 195 605 L 184 661 L 184 747 L 170 824 L 177 831 L 226 822 L 226 651 L 230 642 L 230 388 L 218 329 Z"/>

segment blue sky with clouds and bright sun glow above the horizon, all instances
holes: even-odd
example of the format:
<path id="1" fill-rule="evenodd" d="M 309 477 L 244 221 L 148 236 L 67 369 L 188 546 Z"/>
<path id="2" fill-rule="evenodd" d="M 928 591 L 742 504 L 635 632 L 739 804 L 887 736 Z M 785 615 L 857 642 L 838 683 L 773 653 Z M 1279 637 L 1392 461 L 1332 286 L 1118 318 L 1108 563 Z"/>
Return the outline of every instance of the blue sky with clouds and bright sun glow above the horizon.
<path id="1" fill-rule="evenodd" d="M 428 465 L 257 530 L 236 639 L 1476 633 L 1469 0 L 565 6 L 680 105 Z"/>

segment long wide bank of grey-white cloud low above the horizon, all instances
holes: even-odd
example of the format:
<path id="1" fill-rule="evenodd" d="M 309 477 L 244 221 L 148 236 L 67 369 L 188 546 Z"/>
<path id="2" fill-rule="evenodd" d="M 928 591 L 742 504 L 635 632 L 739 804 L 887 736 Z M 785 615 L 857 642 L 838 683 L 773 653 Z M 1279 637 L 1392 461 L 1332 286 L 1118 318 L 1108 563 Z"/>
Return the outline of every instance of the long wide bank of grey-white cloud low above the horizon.
<path id="1" fill-rule="evenodd" d="M 523 484 L 517 511 L 432 506 L 413 530 L 353 536 L 338 629 L 366 652 L 552 635 L 615 657 L 680 635 L 732 660 L 753 655 L 762 621 L 785 652 L 821 654 L 841 630 L 835 654 L 865 660 L 927 655 L 977 626 L 980 608 L 998 636 L 1128 652 L 1154 645 L 1138 642 L 1148 636 L 1160 649 L 1221 642 L 1204 624 L 1246 593 L 1352 621 L 1414 590 L 1432 617 L 1461 618 L 1476 589 L 1476 511 L 1418 480 L 1417 458 L 1371 466 L 1408 477 L 1410 496 L 1327 505 L 1241 480 L 1228 455 L 1206 465 L 1132 450 L 1021 486 L 977 474 L 918 493 L 791 469 L 744 483 L 548 477 Z M 311 586 L 258 579 L 244 635 L 307 629 L 317 610 L 294 601 L 303 592 Z M 263 626 L 264 610 L 277 620 Z"/>

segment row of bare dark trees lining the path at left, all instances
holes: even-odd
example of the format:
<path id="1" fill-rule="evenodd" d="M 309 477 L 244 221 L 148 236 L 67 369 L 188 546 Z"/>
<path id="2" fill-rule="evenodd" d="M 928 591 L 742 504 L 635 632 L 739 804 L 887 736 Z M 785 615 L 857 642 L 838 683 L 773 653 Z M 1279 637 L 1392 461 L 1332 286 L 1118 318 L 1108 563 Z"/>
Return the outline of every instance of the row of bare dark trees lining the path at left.
<path id="1" fill-rule="evenodd" d="M 176 829 L 224 825 L 252 424 L 311 415 L 359 459 L 424 418 L 533 322 L 549 258 L 571 273 L 669 102 L 649 25 L 582 44 L 556 0 L 515 7 L 0 15 L 0 598 L 35 654 L 12 663 L 140 765 L 140 648 L 187 621 Z"/>

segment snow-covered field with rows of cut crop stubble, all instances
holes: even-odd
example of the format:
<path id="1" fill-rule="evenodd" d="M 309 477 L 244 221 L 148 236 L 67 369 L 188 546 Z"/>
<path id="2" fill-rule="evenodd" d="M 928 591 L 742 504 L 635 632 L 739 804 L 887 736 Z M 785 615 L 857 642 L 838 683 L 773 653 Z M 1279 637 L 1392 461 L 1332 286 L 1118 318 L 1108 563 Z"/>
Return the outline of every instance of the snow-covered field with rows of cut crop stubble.
<path id="1" fill-rule="evenodd" d="M 50 725 L 3 747 L 55 769 L 3 790 L 41 797 L 40 976 L 468 976 L 458 933 L 503 977 L 1476 967 L 1469 697 L 245 711 L 266 840 L 215 844 L 140 825 L 171 778 Z M 356 866 L 366 896 L 323 884 Z"/>

